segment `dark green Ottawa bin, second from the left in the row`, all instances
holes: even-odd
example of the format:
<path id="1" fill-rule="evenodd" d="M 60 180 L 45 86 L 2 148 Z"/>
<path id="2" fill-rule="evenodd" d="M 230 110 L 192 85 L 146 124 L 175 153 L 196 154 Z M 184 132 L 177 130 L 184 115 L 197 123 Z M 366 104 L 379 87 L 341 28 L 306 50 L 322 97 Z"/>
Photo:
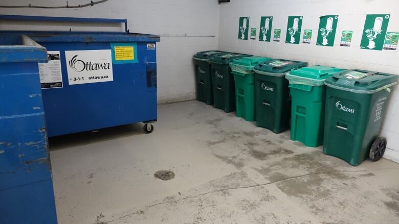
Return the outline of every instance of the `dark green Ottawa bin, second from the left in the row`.
<path id="1" fill-rule="evenodd" d="M 211 62 L 213 106 L 225 112 L 235 111 L 234 77 L 230 62 L 252 55 L 239 53 L 221 53 L 213 56 Z"/>

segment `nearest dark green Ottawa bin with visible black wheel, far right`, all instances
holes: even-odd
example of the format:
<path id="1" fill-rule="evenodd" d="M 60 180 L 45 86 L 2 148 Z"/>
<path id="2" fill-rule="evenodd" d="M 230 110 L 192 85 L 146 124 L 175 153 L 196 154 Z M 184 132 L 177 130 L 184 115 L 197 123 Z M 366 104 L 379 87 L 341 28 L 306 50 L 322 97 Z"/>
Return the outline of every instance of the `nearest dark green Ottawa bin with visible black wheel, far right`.
<path id="1" fill-rule="evenodd" d="M 346 70 L 326 79 L 324 148 L 327 155 L 357 166 L 379 160 L 386 140 L 378 137 L 395 74 Z"/>

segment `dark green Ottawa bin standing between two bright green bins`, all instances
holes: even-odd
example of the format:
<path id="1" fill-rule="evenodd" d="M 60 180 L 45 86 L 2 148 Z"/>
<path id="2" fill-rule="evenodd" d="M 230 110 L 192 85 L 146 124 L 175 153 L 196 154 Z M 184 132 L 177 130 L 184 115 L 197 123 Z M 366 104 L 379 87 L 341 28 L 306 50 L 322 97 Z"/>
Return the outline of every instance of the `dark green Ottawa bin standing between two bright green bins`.
<path id="1" fill-rule="evenodd" d="M 306 62 L 273 59 L 254 67 L 256 126 L 281 133 L 290 127 L 291 96 L 285 73 Z"/>

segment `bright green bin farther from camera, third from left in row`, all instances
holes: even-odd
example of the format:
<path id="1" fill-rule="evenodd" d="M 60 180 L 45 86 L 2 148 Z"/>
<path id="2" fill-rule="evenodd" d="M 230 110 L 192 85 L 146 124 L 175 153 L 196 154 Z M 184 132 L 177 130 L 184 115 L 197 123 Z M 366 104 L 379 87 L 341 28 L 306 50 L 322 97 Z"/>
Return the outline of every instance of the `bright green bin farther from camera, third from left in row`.
<path id="1" fill-rule="evenodd" d="M 254 67 L 271 58 L 252 56 L 230 63 L 235 81 L 236 115 L 247 121 L 255 121 L 255 74 Z"/>

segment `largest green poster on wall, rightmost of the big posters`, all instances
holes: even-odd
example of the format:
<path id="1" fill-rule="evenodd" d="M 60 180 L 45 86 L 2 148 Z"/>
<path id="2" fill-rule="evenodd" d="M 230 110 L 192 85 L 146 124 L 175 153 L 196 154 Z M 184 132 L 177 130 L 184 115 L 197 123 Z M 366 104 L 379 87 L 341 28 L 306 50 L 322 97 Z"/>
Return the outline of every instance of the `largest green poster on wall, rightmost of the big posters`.
<path id="1" fill-rule="evenodd" d="M 366 16 L 360 48 L 382 51 L 390 14 Z"/>

